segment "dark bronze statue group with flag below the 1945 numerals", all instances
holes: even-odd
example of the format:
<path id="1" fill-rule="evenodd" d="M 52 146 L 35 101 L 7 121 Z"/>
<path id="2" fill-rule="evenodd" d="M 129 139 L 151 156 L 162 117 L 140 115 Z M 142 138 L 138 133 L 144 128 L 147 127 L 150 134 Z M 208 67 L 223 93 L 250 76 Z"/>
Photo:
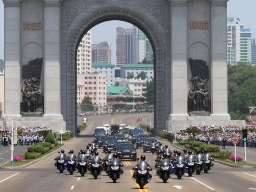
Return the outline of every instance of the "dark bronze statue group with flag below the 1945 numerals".
<path id="1" fill-rule="evenodd" d="M 208 92 L 209 71 L 206 62 L 189 59 L 193 77 L 190 79 L 193 86 L 188 93 L 188 112 L 211 111 L 211 98 Z"/>

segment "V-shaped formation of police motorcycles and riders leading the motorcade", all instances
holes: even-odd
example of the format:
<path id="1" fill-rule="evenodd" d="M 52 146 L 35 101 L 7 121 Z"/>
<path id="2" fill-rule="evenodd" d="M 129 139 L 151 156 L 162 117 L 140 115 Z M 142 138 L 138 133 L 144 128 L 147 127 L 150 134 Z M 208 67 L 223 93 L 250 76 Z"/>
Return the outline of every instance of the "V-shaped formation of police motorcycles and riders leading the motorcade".
<path id="1" fill-rule="evenodd" d="M 151 145 L 150 145 L 151 144 Z M 193 173 L 199 175 L 202 171 L 208 173 L 213 167 L 210 154 L 207 153 L 207 149 L 201 154 L 199 150 L 195 154 L 191 150 L 183 149 L 181 151 L 170 150 L 167 145 L 162 146 L 162 143 L 151 142 L 148 145 L 149 150 L 153 155 L 157 154 L 155 159 L 156 175 L 167 183 L 167 180 L 172 177 L 173 174 L 181 179 L 185 173 L 188 173 L 188 177 L 193 177 Z M 122 144 L 121 144 L 122 145 Z M 85 173 L 90 173 L 94 179 L 97 179 L 103 171 L 106 172 L 108 177 L 116 183 L 118 179 L 121 179 L 124 171 L 124 166 L 118 159 L 118 154 L 111 154 L 111 150 L 108 149 L 105 154 L 106 157 L 101 159 L 97 150 L 97 145 L 94 142 L 89 143 L 86 149 L 81 149 L 76 157 L 74 150 L 69 151 L 69 155 L 66 156 L 65 150 L 58 151 L 59 155 L 54 158 L 55 167 L 63 173 L 65 169 L 73 174 L 76 170 L 84 177 Z M 143 149 L 143 153 L 146 153 Z M 140 160 L 140 162 L 139 162 Z M 146 162 L 145 155 L 141 155 L 140 159 L 137 158 L 137 165 L 132 169 L 132 179 L 139 185 L 140 189 L 143 189 L 147 183 L 152 179 L 152 175 L 149 173 L 152 171 L 151 166 Z"/>

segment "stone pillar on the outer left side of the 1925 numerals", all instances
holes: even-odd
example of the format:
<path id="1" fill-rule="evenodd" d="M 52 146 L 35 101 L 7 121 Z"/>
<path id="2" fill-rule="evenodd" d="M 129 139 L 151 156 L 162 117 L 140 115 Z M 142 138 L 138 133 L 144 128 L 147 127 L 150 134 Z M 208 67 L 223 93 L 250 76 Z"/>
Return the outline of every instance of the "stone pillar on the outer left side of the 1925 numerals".
<path id="1" fill-rule="evenodd" d="M 20 115 L 20 2 L 4 2 L 5 107 L 3 117 L 19 119 Z"/>

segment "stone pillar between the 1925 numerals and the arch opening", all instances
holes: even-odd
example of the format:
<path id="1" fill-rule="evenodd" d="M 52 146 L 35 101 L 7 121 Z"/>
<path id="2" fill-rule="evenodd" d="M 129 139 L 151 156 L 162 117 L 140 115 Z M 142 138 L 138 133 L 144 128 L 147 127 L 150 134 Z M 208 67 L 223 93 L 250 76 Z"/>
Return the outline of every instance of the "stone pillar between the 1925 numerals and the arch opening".
<path id="1" fill-rule="evenodd" d="M 44 117 L 63 120 L 60 100 L 60 2 L 44 2 Z"/>

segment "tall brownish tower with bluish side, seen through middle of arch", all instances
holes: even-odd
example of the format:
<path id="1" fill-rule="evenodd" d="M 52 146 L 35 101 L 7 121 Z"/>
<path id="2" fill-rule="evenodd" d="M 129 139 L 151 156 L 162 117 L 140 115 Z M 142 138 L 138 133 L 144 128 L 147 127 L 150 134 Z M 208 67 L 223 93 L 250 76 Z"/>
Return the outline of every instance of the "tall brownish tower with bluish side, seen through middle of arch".
<path id="1" fill-rule="evenodd" d="M 116 27 L 116 66 L 133 62 L 132 28 Z"/>

